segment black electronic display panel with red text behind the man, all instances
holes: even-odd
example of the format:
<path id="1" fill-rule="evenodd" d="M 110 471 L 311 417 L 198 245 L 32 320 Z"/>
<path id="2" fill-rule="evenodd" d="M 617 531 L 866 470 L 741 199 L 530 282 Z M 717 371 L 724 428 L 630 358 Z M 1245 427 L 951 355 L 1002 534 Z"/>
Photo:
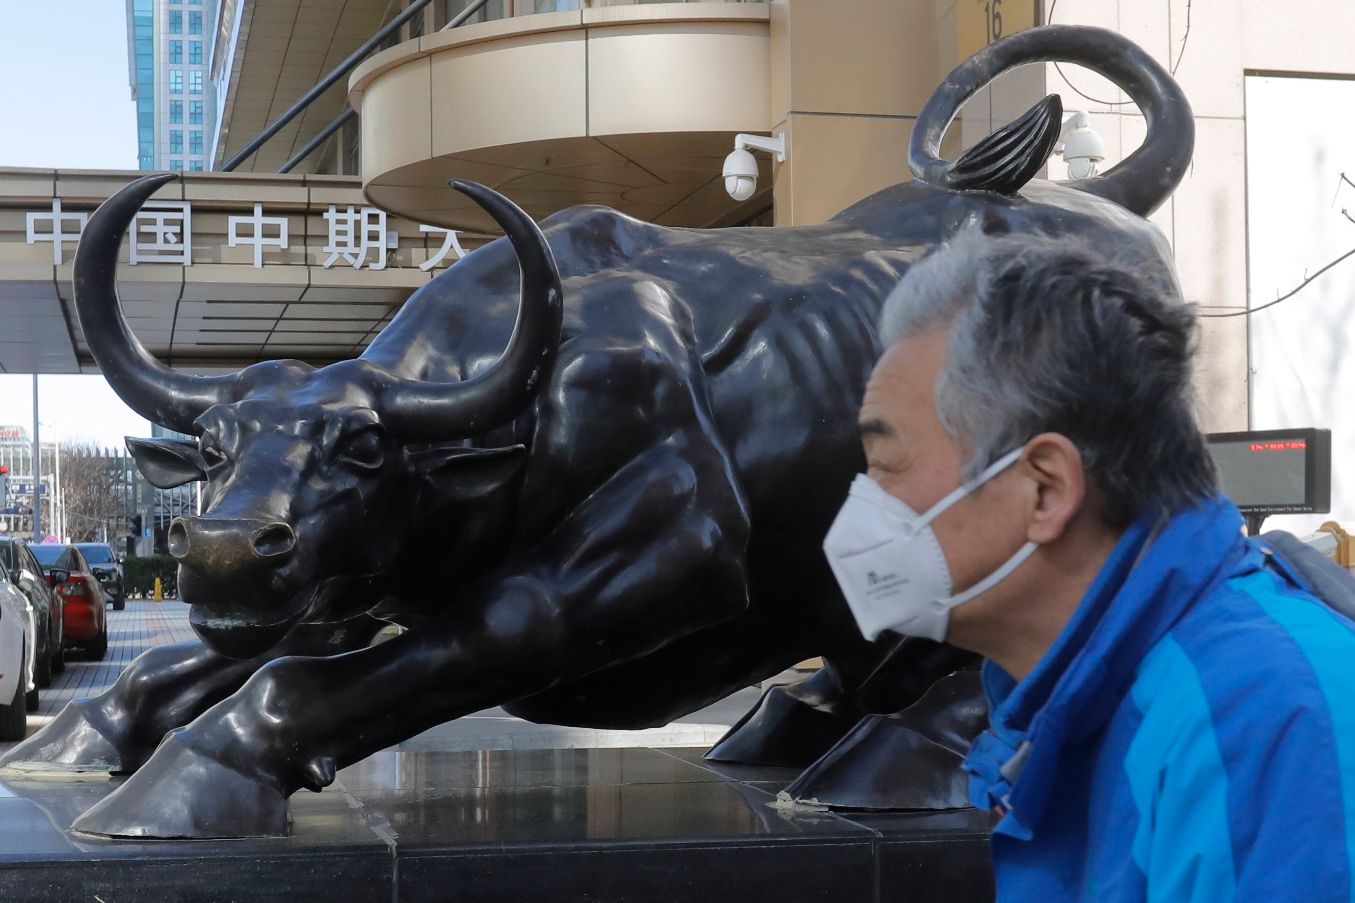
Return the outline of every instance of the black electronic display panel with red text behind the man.
<path id="1" fill-rule="evenodd" d="M 1331 511 L 1331 430 L 1253 430 L 1207 438 L 1224 495 L 1243 514 Z"/>

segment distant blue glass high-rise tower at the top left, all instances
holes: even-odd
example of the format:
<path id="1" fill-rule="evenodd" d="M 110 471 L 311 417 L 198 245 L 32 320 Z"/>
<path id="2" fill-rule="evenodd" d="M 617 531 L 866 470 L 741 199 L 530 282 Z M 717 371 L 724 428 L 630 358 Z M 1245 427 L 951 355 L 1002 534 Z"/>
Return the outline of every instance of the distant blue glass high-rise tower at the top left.
<path id="1" fill-rule="evenodd" d="M 127 62 L 141 169 L 210 168 L 217 0 L 127 0 Z"/>

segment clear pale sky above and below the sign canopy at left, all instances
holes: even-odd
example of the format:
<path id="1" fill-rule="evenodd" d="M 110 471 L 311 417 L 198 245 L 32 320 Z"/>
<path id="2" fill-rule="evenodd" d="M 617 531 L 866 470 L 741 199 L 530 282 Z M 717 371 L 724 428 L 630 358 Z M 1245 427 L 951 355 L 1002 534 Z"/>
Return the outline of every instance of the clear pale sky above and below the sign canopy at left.
<path id="1" fill-rule="evenodd" d="M 137 168 L 125 0 L 0 0 L 0 167 Z M 41 386 L 43 438 L 150 434 L 103 377 Z M 30 376 L 0 376 L 0 424 L 31 430 Z"/>

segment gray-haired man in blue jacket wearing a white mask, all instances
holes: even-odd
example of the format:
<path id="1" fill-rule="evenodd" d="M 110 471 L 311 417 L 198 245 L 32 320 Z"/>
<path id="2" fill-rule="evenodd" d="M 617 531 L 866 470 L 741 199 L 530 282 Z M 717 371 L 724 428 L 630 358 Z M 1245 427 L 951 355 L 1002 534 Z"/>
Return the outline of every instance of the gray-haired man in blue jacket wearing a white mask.
<path id="1" fill-rule="evenodd" d="M 1350 900 L 1355 625 L 1220 495 L 1167 283 L 978 229 L 916 263 L 824 550 L 869 639 L 985 656 L 1000 900 Z"/>

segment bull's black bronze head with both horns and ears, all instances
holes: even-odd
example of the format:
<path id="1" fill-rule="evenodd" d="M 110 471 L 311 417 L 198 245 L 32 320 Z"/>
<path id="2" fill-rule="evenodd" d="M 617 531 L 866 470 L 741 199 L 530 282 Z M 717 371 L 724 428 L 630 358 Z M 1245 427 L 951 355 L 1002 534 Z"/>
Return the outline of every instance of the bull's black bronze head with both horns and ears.
<path id="1" fill-rule="evenodd" d="M 522 446 L 472 449 L 535 397 L 560 347 L 560 275 L 537 224 L 503 195 L 453 183 L 504 229 L 522 297 L 503 355 L 474 378 L 424 382 L 427 361 L 394 372 L 366 359 L 316 369 L 256 363 L 229 376 L 171 370 L 137 340 L 117 296 L 118 247 L 141 205 L 173 175 L 138 179 L 91 217 L 75 260 L 89 350 L 118 395 L 154 423 L 198 437 L 129 439 L 160 488 L 202 481 L 201 515 L 168 533 L 198 635 L 236 658 L 257 655 L 305 620 L 335 610 L 355 580 L 388 569 L 415 500 L 467 500 L 520 468 Z"/>

